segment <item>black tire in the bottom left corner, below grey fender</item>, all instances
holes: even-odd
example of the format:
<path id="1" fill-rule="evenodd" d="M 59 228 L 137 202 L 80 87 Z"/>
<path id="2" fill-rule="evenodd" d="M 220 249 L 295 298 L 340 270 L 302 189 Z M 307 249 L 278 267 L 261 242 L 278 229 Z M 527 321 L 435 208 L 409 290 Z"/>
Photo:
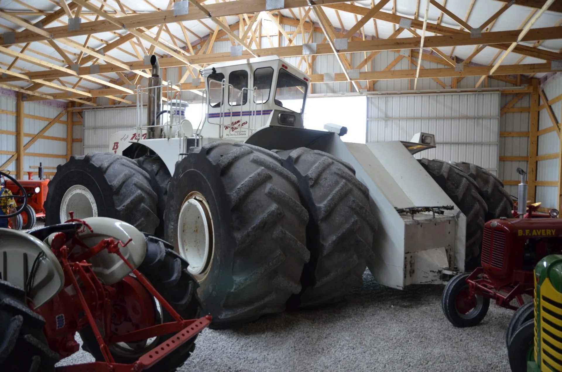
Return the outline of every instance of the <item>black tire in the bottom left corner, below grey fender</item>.
<path id="1" fill-rule="evenodd" d="M 26 305 L 25 291 L 0 280 L 0 370 L 55 370 L 58 353 L 49 348 L 44 325 Z"/>

